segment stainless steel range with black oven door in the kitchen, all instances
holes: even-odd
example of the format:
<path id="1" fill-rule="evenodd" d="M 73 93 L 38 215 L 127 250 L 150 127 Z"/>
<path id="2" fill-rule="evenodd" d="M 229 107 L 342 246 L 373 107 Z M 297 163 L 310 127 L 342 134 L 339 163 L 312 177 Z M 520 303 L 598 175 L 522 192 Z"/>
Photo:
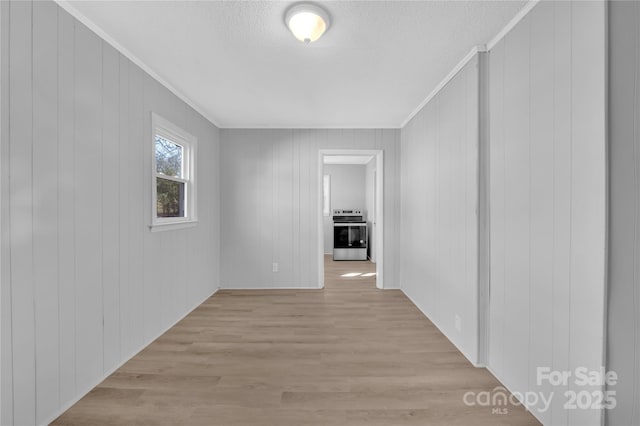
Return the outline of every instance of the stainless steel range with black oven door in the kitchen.
<path id="1" fill-rule="evenodd" d="M 362 210 L 333 210 L 333 260 L 367 260 L 367 222 Z"/>

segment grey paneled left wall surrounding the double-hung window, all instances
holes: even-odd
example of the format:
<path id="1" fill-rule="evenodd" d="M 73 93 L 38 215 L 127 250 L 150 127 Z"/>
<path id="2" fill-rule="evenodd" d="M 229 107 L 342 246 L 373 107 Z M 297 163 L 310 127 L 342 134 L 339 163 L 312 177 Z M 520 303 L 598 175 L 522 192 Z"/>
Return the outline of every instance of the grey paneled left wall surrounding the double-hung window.
<path id="1" fill-rule="evenodd" d="M 219 283 L 219 131 L 50 1 L 2 2 L 2 418 L 43 424 Z M 151 233 L 151 112 L 198 137 Z"/>

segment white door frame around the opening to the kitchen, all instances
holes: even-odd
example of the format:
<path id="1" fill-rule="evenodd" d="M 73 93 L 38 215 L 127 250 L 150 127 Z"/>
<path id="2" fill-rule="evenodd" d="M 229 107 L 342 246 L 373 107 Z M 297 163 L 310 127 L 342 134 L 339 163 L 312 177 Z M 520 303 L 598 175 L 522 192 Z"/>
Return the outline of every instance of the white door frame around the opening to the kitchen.
<path id="1" fill-rule="evenodd" d="M 381 149 L 321 149 L 318 152 L 318 288 L 324 287 L 324 216 L 322 214 L 322 180 L 324 157 L 328 155 L 372 155 L 376 160 L 376 287 L 384 288 L 384 151 Z"/>

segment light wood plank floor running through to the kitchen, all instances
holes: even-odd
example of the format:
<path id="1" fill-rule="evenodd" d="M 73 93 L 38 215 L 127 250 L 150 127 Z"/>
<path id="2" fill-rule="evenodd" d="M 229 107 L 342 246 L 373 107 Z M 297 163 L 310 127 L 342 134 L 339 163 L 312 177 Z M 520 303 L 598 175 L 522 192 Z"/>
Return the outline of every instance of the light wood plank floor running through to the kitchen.
<path id="1" fill-rule="evenodd" d="M 474 368 L 368 262 L 326 260 L 324 290 L 221 290 L 55 425 L 529 425 L 468 407 Z"/>

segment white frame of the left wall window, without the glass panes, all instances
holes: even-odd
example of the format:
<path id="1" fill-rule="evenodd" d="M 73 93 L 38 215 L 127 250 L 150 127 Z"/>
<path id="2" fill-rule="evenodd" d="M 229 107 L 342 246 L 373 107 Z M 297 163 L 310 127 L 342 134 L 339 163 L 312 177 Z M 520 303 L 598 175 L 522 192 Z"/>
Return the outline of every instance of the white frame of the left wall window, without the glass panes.
<path id="1" fill-rule="evenodd" d="M 195 226 L 198 222 L 198 191 L 196 186 L 196 150 L 198 139 L 169 120 L 151 113 L 151 226 L 152 232 Z M 156 172 L 156 135 L 182 146 L 182 178 Z M 157 178 L 185 184 L 185 216 L 158 217 Z"/>

